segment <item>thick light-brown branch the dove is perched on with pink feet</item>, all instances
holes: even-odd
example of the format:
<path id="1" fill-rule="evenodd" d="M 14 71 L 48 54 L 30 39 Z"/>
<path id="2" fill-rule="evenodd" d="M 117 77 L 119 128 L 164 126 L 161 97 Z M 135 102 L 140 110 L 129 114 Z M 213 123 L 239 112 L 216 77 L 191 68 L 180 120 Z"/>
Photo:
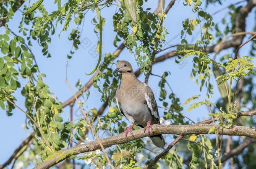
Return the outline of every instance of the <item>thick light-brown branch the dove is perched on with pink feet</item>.
<path id="1" fill-rule="evenodd" d="M 211 124 L 193 124 L 193 125 L 152 125 L 154 134 L 208 134 L 209 130 L 213 127 L 217 127 L 217 125 Z M 246 126 L 233 126 L 232 128 L 222 128 L 219 130 L 219 134 L 223 135 L 232 135 L 232 136 L 247 136 L 250 138 L 256 138 L 256 129 L 250 128 Z M 105 139 L 101 139 L 101 143 L 104 147 L 109 147 L 115 144 L 124 144 L 129 141 L 133 141 L 136 139 L 141 139 L 147 137 L 147 133 L 144 132 L 144 129 L 138 129 L 133 131 L 133 136 L 131 134 L 128 135 L 128 138 L 125 138 L 125 134 L 118 134 L 117 136 L 111 136 Z M 91 143 L 86 143 L 78 146 L 74 146 L 72 148 L 61 150 L 61 153 L 56 153 L 56 156 L 53 159 L 49 159 L 44 161 L 35 167 L 35 169 L 46 169 L 55 164 L 67 159 L 71 155 L 76 155 L 88 151 L 95 151 L 100 149 L 100 145 L 98 141 L 93 141 Z"/>

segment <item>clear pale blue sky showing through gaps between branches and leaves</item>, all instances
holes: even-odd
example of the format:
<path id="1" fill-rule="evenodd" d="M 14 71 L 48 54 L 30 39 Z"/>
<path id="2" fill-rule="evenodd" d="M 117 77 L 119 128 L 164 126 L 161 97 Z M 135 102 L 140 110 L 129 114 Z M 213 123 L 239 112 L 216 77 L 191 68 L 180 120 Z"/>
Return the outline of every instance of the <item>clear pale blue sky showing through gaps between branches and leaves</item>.
<path id="1" fill-rule="evenodd" d="M 166 0 L 166 5 L 169 0 Z M 235 0 L 237 2 L 238 0 Z M 215 11 L 229 5 L 233 1 L 225 1 L 222 5 L 210 5 L 207 8 L 208 13 L 214 13 Z M 27 4 L 27 3 L 26 3 Z M 57 5 L 53 4 L 53 1 L 44 1 L 44 6 L 48 11 L 57 10 Z M 242 3 L 245 4 L 245 3 Z M 143 8 L 154 8 L 157 6 L 156 0 L 149 0 L 147 3 L 144 3 Z M 205 4 L 203 5 L 205 6 Z M 112 53 L 115 51 L 115 47 L 113 45 L 113 40 L 115 38 L 116 33 L 113 31 L 113 23 L 112 23 L 112 15 L 115 13 L 117 7 L 104 8 L 101 11 L 101 15 L 106 18 L 106 25 L 103 28 L 103 43 L 102 43 L 102 52 L 103 53 Z M 23 7 L 20 8 L 21 10 Z M 83 48 L 79 46 L 79 50 L 75 52 L 72 59 L 67 58 L 67 54 L 71 50 L 72 42 L 67 39 L 72 28 L 76 28 L 75 24 L 71 24 L 66 32 L 61 33 L 60 38 L 58 38 L 58 33 L 62 29 L 63 25 L 58 25 L 55 35 L 53 35 L 52 43 L 49 45 L 49 50 L 52 55 L 51 58 L 46 58 L 41 53 L 41 48 L 37 45 L 36 41 L 34 41 L 34 45 L 31 48 L 34 55 L 36 56 L 37 63 L 41 73 L 45 73 L 47 75 L 44 78 L 45 83 L 50 87 L 50 90 L 55 93 L 60 101 L 65 101 L 72 96 L 71 91 L 68 89 L 68 86 L 65 83 L 65 68 L 66 62 L 68 61 L 68 81 L 71 83 L 73 88 L 75 88 L 75 84 L 78 79 L 81 80 L 82 84 L 86 83 L 91 76 L 86 76 L 86 73 L 89 73 L 94 66 L 97 64 L 97 57 L 92 57 L 89 52 L 90 49 L 93 48 L 94 45 L 97 44 L 97 36 L 94 33 L 94 25 L 91 24 L 91 19 L 94 18 L 96 13 L 92 13 L 91 11 L 85 16 L 85 23 L 83 32 L 81 34 L 81 40 L 85 40 L 82 44 L 86 43 L 86 40 L 91 41 L 91 45 L 89 47 Z M 224 15 L 227 15 L 227 10 L 222 11 L 217 15 L 214 15 L 214 22 L 219 23 Z M 164 21 L 164 25 L 167 27 L 169 34 L 166 39 L 169 45 L 175 45 L 180 43 L 180 30 L 182 29 L 182 21 L 186 18 L 194 18 L 191 7 L 184 7 L 183 0 L 177 0 L 175 5 L 170 9 L 167 14 L 167 18 Z M 13 17 L 13 20 L 8 23 L 9 28 L 12 29 L 15 33 L 18 33 L 18 24 L 21 20 L 21 12 L 17 11 Z M 252 31 L 254 27 L 255 21 L 255 9 L 251 12 L 246 19 L 246 30 Z M 2 32 L 4 28 L 0 28 L 0 32 Z M 177 36 L 178 35 L 178 36 Z M 175 38 L 177 37 L 177 38 Z M 246 36 L 245 40 L 248 39 L 249 36 Z M 188 38 L 188 42 L 193 42 L 198 37 L 197 30 L 195 31 L 195 36 Z M 190 41 L 189 41 L 190 40 Z M 88 44 L 88 43 L 87 43 Z M 240 55 L 248 55 L 251 49 L 251 45 L 247 44 L 240 50 Z M 224 53 L 232 53 L 232 50 L 225 50 L 221 54 Z M 158 55 L 161 55 L 158 54 Z M 158 56 L 157 55 L 157 56 Z M 218 55 L 219 56 L 219 55 Z M 217 57 L 218 57 L 217 56 Z M 137 70 L 138 66 L 134 60 L 134 55 L 129 53 L 127 49 L 123 50 L 118 60 L 126 60 L 129 61 L 134 70 Z M 199 92 L 199 86 L 196 85 L 194 81 L 191 81 L 190 73 L 192 69 L 192 58 L 186 59 L 186 64 L 183 68 L 180 68 L 180 65 L 176 64 L 174 60 L 168 59 L 165 62 L 157 63 L 153 66 L 153 73 L 157 75 L 162 75 L 164 71 L 170 71 L 171 75 L 167 78 L 167 81 L 170 83 L 172 90 L 176 94 L 177 97 L 180 98 L 181 103 L 186 101 L 193 95 L 200 94 L 200 101 L 206 98 L 205 90 L 201 93 Z M 21 79 L 21 85 L 23 86 L 26 83 L 26 79 Z M 144 81 L 144 75 L 139 77 L 142 81 Z M 149 85 L 153 88 L 155 95 L 157 95 L 158 88 L 158 77 L 150 76 Z M 214 95 L 210 99 L 215 102 L 219 98 L 219 92 L 217 91 L 216 83 L 214 82 L 214 78 L 211 79 L 212 83 L 214 83 Z M 159 89 L 159 90 L 158 90 Z M 99 108 L 100 95 L 97 93 L 96 89 L 91 88 L 91 96 L 87 102 L 89 108 Z M 18 101 L 16 103 L 24 108 L 24 98 L 21 96 L 21 88 L 17 90 L 15 93 Z M 159 106 L 162 106 L 162 103 L 159 102 Z M 77 105 L 74 106 L 74 110 L 76 110 Z M 193 119 L 194 121 L 198 121 L 200 119 L 208 118 L 208 109 L 205 106 L 201 106 L 193 111 L 188 112 L 187 106 L 185 106 L 183 113 L 185 116 Z M 160 115 L 162 115 L 163 110 L 159 109 Z M 69 117 L 69 107 L 64 109 L 62 116 L 65 119 Z M 79 117 L 79 116 L 78 116 Z M 1 140 L 0 140 L 0 149 L 2 152 L 0 153 L 0 164 L 8 159 L 10 154 L 13 153 L 14 149 L 18 147 L 18 145 L 23 141 L 28 134 L 30 134 L 29 130 L 24 130 L 22 126 L 25 123 L 25 115 L 15 109 L 13 111 L 13 116 L 7 116 L 3 110 L 0 113 L 0 131 L 1 131 Z M 74 117 L 76 119 L 76 116 Z"/>

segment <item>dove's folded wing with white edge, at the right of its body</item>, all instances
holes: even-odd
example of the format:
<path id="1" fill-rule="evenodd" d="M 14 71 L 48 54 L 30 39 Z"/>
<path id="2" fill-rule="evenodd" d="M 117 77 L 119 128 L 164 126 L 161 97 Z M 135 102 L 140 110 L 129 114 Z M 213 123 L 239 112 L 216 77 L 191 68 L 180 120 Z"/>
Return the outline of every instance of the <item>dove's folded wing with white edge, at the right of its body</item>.
<path id="1" fill-rule="evenodd" d="M 155 100 L 154 93 L 153 93 L 152 89 L 147 84 L 145 84 L 145 86 L 146 86 L 145 103 L 148 106 L 149 112 L 154 117 L 157 124 L 160 124 L 160 121 L 159 121 L 160 117 L 159 117 L 157 102 Z"/>

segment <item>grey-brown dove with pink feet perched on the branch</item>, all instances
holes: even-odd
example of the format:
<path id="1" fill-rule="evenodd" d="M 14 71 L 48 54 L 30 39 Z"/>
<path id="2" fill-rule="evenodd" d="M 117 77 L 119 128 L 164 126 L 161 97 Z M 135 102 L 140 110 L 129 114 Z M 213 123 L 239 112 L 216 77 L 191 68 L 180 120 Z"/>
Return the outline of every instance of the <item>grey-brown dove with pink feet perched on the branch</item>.
<path id="1" fill-rule="evenodd" d="M 144 132 L 150 129 L 153 131 L 151 124 L 160 124 L 157 103 L 154 98 L 152 89 L 146 84 L 139 81 L 131 64 L 127 61 L 118 61 L 115 72 L 122 74 L 120 86 L 116 90 L 116 102 L 119 111 L 128 119 L 131 126 L 123 133 L 132 132 L 133 125 L 144 128 Z M 159 135 L 150 136 L 154 145 L 158 147 L 165 146 L 164 137 Z"/>

